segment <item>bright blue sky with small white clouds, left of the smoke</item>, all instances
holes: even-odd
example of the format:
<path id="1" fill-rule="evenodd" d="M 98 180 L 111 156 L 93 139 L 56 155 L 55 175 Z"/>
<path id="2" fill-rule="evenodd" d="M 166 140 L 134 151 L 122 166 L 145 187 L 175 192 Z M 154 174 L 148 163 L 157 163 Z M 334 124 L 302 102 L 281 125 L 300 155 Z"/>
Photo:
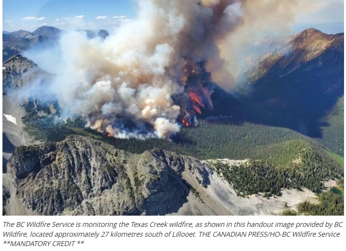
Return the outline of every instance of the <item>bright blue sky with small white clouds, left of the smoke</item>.
<path id="1" fill-rule="evenodd" d="M 110 28 L 132 18 L 134 9 L 131 0 L 3 0 L 2 28 Z"/>

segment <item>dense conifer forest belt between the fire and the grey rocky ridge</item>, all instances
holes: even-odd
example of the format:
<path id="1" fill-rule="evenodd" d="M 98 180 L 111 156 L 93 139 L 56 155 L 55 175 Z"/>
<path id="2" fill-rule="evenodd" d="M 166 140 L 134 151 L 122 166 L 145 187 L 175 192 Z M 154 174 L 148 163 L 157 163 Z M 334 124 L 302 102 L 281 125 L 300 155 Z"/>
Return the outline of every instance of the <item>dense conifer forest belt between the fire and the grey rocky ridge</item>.
<path id="1" fill-rule="evenodd" d="M 181 133 L 167 139 L 115 139 L 106 137 L 91 129 L 76 129 L 76 121 L 58 127 L 30 127 L 30 134 L 44 141 L 60 141 L 70 134 L 94 136 L 132 153 L 143 153 L 155 147 L 193 156 L 200 160 L 207 159 L 262 159 L 274 166 L 300 162 L 301 154 L 318 152 L 324 159 L 333 161 L 314 139 L 293 130 L 260 124 L 232 124 L 231 120 L 223 123 L 208 120 L 199 121 L 195 128 L 182 128 Z M 44 133 L 43 133 L 44 132 Z M 50 132 L 49 134 L 47 132 Z M 44 137 L 43 137 L 44 136 Z M 340 163 L 340 162 L 339 162 Z M 339 166 L 339 165 L 338 165 Z"/>

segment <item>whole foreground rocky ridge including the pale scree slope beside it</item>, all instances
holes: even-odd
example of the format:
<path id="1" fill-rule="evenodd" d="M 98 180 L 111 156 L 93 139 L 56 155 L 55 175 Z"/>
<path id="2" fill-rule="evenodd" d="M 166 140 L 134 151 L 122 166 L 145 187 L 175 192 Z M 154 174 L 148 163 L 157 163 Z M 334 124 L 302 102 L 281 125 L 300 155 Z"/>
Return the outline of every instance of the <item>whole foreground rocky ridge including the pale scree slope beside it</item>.
<path id="1" fill-rule="evenodd" d="M 280 214 L 285 205 L 296 208 L 309 197 L 315 201 L 306 189 L 283 189 L 271 198 L 269 190 L 264 196 L 237 195 L 247 190 L 242 179 L 233 180 L 237 191 L 233 188 L 229 171 L 248 169 L 256 177 L 261 165 L 201 162 L 157 148 L 132 154 L 90 137 L 69 136 L 16 148 L 3 174 L 3 209 L 8 215 L 263 215 Z M 278 177 L 268 176 L 269 184 L 273 178 Z M 252 189 L 265 189 L 262 184 Z"/>

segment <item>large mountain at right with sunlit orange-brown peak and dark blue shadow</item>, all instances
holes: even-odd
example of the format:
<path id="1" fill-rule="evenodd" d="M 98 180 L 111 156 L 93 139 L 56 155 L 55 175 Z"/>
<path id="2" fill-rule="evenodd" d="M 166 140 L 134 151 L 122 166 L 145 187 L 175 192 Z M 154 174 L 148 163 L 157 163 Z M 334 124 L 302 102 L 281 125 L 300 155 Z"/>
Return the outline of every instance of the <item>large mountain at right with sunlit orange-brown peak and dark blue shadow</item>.
<path id="1" fill-rule="evenodd" d="M 320 119 L 344 95 L 344 33 L 309 28 L 256 46 L 265 53 L 239 76 L 240 91 L 257 106 L 286 117 L 286 127 L 321 138 Z"/>

